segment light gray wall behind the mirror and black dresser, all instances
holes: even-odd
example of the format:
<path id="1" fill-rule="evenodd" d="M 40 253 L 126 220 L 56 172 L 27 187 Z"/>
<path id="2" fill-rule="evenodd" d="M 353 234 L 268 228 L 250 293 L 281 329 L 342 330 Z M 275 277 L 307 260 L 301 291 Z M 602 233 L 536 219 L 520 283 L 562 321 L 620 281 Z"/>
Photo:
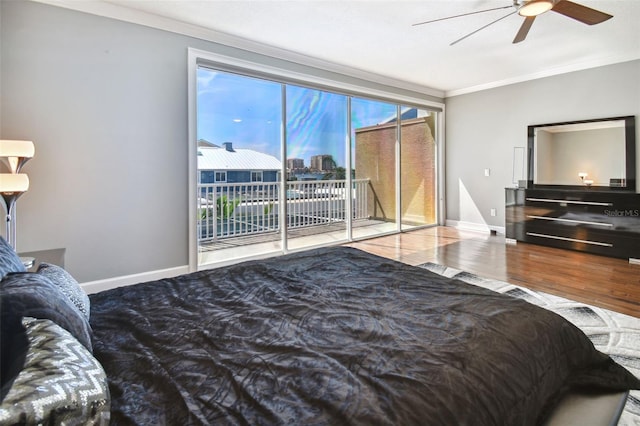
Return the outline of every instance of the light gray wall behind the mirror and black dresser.
<path id="1" fill-rule="evenodd" d="M 504 188 L 513 185 L 513 148 L 527 146 L 527 126 L 635 115 L 640 141 L 640 60 L 454 96 L 445 103 L 447 219 L 499 229 Z M 640 166 L 637 145 L 636 156 Z M 484 176 L 485 169 L 490 176 Z M 638 181 L 640 168 L 636 173 Z"/>

